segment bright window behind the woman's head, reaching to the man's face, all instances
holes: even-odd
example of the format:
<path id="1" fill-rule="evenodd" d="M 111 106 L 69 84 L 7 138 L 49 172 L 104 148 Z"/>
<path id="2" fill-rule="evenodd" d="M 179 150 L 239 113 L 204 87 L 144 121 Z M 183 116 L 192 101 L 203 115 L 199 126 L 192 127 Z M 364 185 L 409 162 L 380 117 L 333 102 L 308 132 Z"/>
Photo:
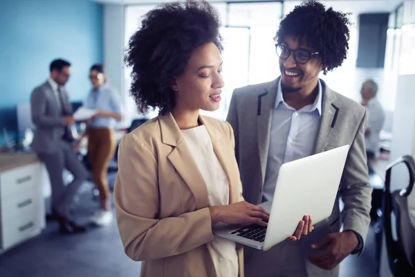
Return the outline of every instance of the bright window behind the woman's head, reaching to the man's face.
<path id="1" fill-rule="evenodd" d="M 257 3 L 212 3 L 221 15 L 221 35 L 223 36 L 223 88 L 221 106 L 217 111 L 206 112 L 215 118 L 224 120 L 232 91 L 247 84 L 267 82 L 279 75 L 278 60 L 275 55 L 273 37 L 282 17 L 281 2 Z M 125 12 L 125 45 L 129 37 L 138 28 L 140 17 L 154 5 L 127 6 Z M 125 71 L 126 109 L 133 118 L 140 117 L 135 103 L 128 96 L 130 87 L 130 69 Z M 147 114 L 156 116 L 158 111 Z"/>

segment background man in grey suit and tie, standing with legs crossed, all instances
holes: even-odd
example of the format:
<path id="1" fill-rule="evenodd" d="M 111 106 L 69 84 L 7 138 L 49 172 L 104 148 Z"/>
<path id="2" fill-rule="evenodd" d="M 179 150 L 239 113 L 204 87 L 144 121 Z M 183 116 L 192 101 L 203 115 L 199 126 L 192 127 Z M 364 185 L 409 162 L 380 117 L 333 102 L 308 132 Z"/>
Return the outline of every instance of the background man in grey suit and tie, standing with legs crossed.
<path id="1" fill-rule="evenodd" d="M 71 204 L 88 172 L 65 139 L 66 128 L 75 123 L 65 84 L 71 75 L 71 64 L 54 60 L 50 64 L 50 78 L 35 88 L 30 97 L 32 120 L 36 126 L 32 148 L 48 170 L 52 188 L 53 213 L 61 233 L 79 233 L 84 226 L 71 220 Z M 73 175 L 65 186 L 64 168 Z"/>

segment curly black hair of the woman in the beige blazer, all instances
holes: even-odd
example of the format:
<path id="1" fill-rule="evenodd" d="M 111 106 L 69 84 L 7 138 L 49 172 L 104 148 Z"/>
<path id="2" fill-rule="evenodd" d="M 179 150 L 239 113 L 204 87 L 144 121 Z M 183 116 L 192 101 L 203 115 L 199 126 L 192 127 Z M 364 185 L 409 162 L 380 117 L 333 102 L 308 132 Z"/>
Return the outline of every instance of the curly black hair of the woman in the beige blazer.
<path id="1" fill-rule="evenodd" d="M 130 95 L 138 111 L 145 114 L 158 108 L 164 115 L 174 108 L 171 87 L 192 52 L 209 42 L 223 50 L 219 26 L 219 14 L 207 1 L 163 3 L 142 17 L 124 56 L 127 66 L 132 66 Z"/>

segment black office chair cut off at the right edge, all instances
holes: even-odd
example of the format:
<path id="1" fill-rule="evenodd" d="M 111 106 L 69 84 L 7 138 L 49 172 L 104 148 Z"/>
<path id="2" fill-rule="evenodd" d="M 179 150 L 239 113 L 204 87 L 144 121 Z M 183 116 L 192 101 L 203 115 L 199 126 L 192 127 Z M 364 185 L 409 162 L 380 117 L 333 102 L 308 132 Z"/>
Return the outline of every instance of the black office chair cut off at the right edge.
<path id="1" fill-rule="evenodd" d="M 409 170 L 409 185 L 403 190 L 390 191 L 391 170 L 404 163 Z M 407 196 L 412 192 L 415 181 L 415 162 L 411 156 L 400 157 L 386 171 L 383 197 L 383 215 L 389 268 L 394 276 L 415 276 L 415 227 L 412 226 Z M 391 213 L 396 216 L 398 240 L 392 237 Z"/>

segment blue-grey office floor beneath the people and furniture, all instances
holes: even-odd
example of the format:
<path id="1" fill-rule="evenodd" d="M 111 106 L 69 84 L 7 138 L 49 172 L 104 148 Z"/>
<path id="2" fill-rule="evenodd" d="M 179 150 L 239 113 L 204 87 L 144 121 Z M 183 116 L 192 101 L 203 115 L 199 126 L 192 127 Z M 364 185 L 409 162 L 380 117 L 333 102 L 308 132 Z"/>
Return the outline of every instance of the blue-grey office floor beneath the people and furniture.
<path id="1" fill-rule="evenodd" d="M 112 177 L 110 176 L 110 179 Z M 111 180 L 113 181 L 113 180 Z M 85 221 L 98 208 L 91 185 L 82 189 L 76 215 Z M 129 277 L 140 275 L 140 262 L 124 254 L 115 220 L 105 228 L 78 235 L 59 235 L 57 224 L 47 222 L 42 235 L 0 255 L 1 277 Z M 369 231 L 362 256 L 342 263 L 341 277 L 376 277 L 374 232 Z"/>

